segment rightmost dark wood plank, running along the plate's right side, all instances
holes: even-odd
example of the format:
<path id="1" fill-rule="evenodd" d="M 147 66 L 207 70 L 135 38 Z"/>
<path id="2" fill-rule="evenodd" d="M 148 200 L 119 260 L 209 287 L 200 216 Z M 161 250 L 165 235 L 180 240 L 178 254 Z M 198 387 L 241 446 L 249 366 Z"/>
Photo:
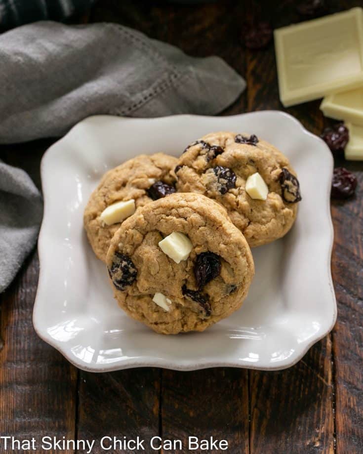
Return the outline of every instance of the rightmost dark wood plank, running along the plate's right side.
<path id="1" fill-rule="evenodd" d="M 352 200 L 332 204 L 336 450 L 358 454 L 363 452 L 363 163 L 337 164 L 355 171 L 359 186 Z"/>

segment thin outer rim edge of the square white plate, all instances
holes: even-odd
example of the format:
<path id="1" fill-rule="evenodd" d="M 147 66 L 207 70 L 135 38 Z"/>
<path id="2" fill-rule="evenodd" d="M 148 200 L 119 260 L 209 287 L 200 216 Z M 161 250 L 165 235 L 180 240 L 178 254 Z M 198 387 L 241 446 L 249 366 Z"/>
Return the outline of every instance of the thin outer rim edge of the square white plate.
<path id="1" fill-rule="evenodd" d="M 242 114 L 236 114 L 236 115 L 230 115 L 230 116 L 223 116 L 221 118 L 241 118 L 245 116 L 258 116 L 261 113 L 271 113 L 274 115 L 279 115 L 287 118 L 289 121 L 293 121 L 295 124 L 297 124 L 300 129 L 302 130 L 303 133 L 311 136 L 314 138 L 314 140 L 320 141 L 324 145 L 324 149 L 327 153 L 328 160 L 330 162 L 330 170 L 331 174 L 333 171 L 333 166 L 334 166 L 334 160 L 331 155 L 330 150 L 328 149 L 327 145 L 325 142 L 309 130 L 307 130 L 303 124 L 293 116 L 287 114 L 286 112 L 279 111 L 279 110 L 274 110 L 274 109 L 267 109 L 267 110 L 261 110 L 261 111 L 255 111 L 255 112 L 247 112 L 247 113 L 242 113 Z M 40 299 L 40 282 L 44 279 L 44 267 L 42 266 L 42 263 L 45 262 L 44 260 L 44 251 L 42 251 L 42 237 L 44 236 L 45 229 L 46 229 L 46 222 L 45 219 L 47 218 L 46 212 L 47 212 L 47 202 L 46 202 L 46 194 L 47 190 L 45 188 L 45 178 L 44 178 L 44 167 L 46 161 L 49 159 L 49 156 L 54 153 L 54 150 L 57 151 L 57 148 L 59 146 L 59 143 L 64 141 L 65 138 L 68 137 L 69 133 L 78 125 L 87 123 L 90 121 L 90 119 L 96 119 L 96 118 L 112 118 L 112 119 L 118 119 L 120 121 L 124 122 L 143 122 L 143 121 L 158 121 L 161 119 L 169 119 L 169 118 L 184 118 L 184 119 L 193 119 L 193 118 L 203 118 L 203 119 L 216 119 L 219 117 L 216 116 L 205 116 L 205 115 L 193 115 L 193 114 L 180 114 L 180 115 L 169 115 L 169 116 L 164 116 L 164 117 L 154 117 L 154 118 L 131 118 L 131 117 L 117 117 L 114 115 L 92 115 L 89 117 L 86 117 L 85 119 L 81 120 L 81 122 L 75 124 L 63 137 L 58 139 L 56 142 L 54 142 L 43 154 L 40 162 L 40 179 L 41 179 L 41 187 L 42 187 L 42 193 L 43 193 L 43 201 L 44 201 L 44 211 L 43 211 L 43 219 L 41 222 L 41 227 L 40 227 L 40 233 L 39 233 L 39 238 L 38 238 L 38 255 L 39 255 L 39 278 L 38 278 L 38 285 L 37 285 L 37 292 L 36 292 L 36 297 L 34 301 L 34 308 L 33 308 L 33 326 L 34 330 L 36 331 L 37 335 L 46 343 L 48 343 L 50 346 L 55 348 L 59 353 L 64 356 L 67 361 L 69 361 L 73 366 L 77 367 L 78 369 L 82 371 L 87 371 L 87 372 L 96 372 L 96 373 L 102 373 L 102 372 L 108 372 L 108 371 L 120 371 L 124 369 L 134 369 L 134 368 L 139 368 L 139 367 L 158 367 L 162 369 L 168 369 L 168 370 L 174 370 L 174 371 L 196 371 L 196 370 L 202 370 L 202 369 L 209 369 L 209 368 L 216 368 L 216 367 L 233 367 L 233 368 L 238 368 L 238 369 L 251 369 L 251 370 L 258 370 L 258 371 L 281 371 L 284 369 L 288 369 L 295 364 L 297 364 L 305 355 L 306 353 L 310 350 L 310 348 L 319 342 L 321 339 L 323 339 L 333 328 L 336 323 L 337 319 L 337 302 L 336 302 L 336 296 L 335 296 L 335 291 L 334 291 L 334 286 L 333 286 L 333 280 L 332 280 L 332 275 L 331 275 L 331 255 L 332 255 L 332 249 L 333 249 L 333 243 L 334 243 L 334 229 L 333 229 L 333 223 L 332 223 L 332 217 L 331 217 L 331 210 L 330 210 L 330 187 L 328 187 L 327 195 L 326 195 L 326 204 L 327 204 L 327 211 L 329 213 L 328 215 L 328 224 L 329 224 L 329 248 L 328 248 L 328 253 L 327 253 L 327 267 L 328 267 L 328 286 L 330 289 L 331 293 L 331 299 L 333 303 L 333 312 L 332 312 L 332 320 L 331 323 L 329 324 L 328 328 L 323 330 L 322 333 L 320 333 L 316 337 L 312 337 L 311 341 L 306 344 L 305 348 L 303 348 L 299 354 L 297 354 L 295 357 L 293 357 L 292 360 L 288 361 L 284 360 L 284 362 L 280 363 L 278 366 L 258 366 L 257 364 L 249 363 L 245 364 L 242 362 L 238 361 L 208 361 L 208 360 L 202 360 L 201 362 L 196 362 L 196 361 L 188 361 L 186 362 L 183 360 L 181 363 L 174 361 L 171 362 L 168 359 L 162 359 L 160 357 L 154 357 L 152 360 L 149 359 L 149 356 L 145 356 L 144 358 L 148 359 L 139 359 L 138 357 L 127 357 L 125 359 L 121 359 L 119 362 L 115 364 L 109 364 L 107 366 L 102 366 L 102 367 L 88 367 L 83 361 L 75 360 L 74 356 L 71 356 L 69 352 L 66 349 L 62 349 L 60 345 L 58 345 L 55 340 L 48 335 L 46 331 L 43 330 L 43 328 L 40 326 L 40 320 L 37 320 L 37 311 L 39 308 L 39 299 Z M 55 147 L 57 145 L 57 147 Z M 45 248 L 44 248 L 45 250 Z"/>

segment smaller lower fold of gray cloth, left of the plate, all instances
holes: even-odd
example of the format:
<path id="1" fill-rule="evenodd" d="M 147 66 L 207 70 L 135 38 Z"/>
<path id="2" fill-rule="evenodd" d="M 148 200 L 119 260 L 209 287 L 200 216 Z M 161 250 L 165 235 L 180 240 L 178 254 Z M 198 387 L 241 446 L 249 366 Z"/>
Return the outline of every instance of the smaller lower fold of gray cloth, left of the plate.
<path id="1" fill-rule="evenodd" d="M 43 212 L 29 175 L 0 161 L 0 292 L 34 247 Z"/>

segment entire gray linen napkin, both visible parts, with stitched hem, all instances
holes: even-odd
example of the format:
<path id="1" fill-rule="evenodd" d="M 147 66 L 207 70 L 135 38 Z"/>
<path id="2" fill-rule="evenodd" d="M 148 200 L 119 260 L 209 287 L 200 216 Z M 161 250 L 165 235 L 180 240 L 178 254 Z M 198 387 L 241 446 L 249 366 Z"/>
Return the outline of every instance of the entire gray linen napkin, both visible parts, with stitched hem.
<path id="1" fill-rule="evenodd" d="M 218 57 L 193 58 L 117 24 L 36 22 L 0 35 L 0 143 L 61 136 L 94 114 L 214 115 L 245 82 Z M 0 291 L 34 246 L 38 191 L 0 166 Z"/>

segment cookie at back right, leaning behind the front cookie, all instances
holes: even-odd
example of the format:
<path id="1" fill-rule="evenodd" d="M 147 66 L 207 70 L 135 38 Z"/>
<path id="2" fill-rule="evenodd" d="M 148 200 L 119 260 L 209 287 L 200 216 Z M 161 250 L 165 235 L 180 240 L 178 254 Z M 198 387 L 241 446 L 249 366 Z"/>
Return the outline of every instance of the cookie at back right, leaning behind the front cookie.
<path id="1" fill-rule="evenodd" d="M 255 135 L 215 132 L 189 145 L 175 167 L 179 192 L 223 205 L 249 246 L 277 240 L 291 228 L 301 200 L 287 158 Z"/>

